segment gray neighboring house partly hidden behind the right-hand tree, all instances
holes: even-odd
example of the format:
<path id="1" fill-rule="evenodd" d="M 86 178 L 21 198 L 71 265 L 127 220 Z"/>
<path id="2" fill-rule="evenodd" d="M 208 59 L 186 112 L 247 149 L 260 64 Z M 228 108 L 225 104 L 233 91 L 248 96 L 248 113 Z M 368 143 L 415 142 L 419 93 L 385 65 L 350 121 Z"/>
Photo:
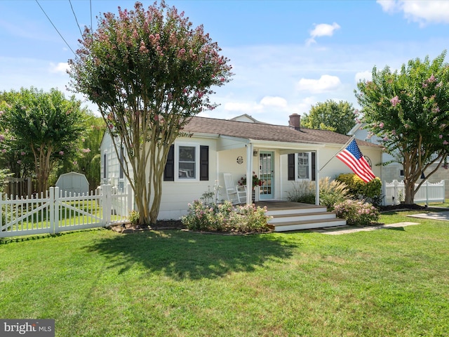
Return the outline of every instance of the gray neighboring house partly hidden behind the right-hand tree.
<path id="1" fill-rule="evenodd" d="M 351 128 L 351 131 L 349 131 L 348 136 L 355 136 L 358 140 L 365 140 L 366 142 L 373 143 L 373 144 L 380 144 L 381 138 L 377 136 L 370 137 L 368 135 L 368 130 L 363 128 L 366 124 L 365 123 L 357 123 L 354 128 Z M 362 151 L 363 152 L 363 151 Z M 391 154 L 388 153 L 382 153 L 382 163 L 388 163 L 390 161 L 393 161 L 394 157 L 391 156 Z M 374 164 L 374 163 L 373 163 Z M 436 167 L 436 164 L 433 164 L 430 166 L 427 171 L 424 171 L 424 176 L 427 176 L 427 173 L 430 173 L 434 170 Z M 381 171 L 382 176 L 382 182 L 391 183 L 393 180 L 404 180 L 404 170 L 403 165 L 398 162 L 392 162 L 390 164 L 382 166 Z M 440 167 L 438 171 L 436 171 L 434 174 L 432 174 L 429 177 L 429 183 L 439 183 L 441 180 L 445 180 L 445 195 L 449 195 L 449 171 L 447 169 L 444 169 L 443 167 Z M 418 180 L 417 183 L 420 183 L 421 180 Z"/>

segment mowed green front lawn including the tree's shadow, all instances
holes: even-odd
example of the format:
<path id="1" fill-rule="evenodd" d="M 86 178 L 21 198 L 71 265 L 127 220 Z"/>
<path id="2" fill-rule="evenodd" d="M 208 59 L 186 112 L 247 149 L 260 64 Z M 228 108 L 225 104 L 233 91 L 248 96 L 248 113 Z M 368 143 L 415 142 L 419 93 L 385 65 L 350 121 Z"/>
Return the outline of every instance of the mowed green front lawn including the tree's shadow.
<path id="1" fill-rule="evenodd" d="M 56 336 L 448 336 L 449 222 L 407 213 L 380 220 L 420 225 L 4 240 L 0 317 Z"/>

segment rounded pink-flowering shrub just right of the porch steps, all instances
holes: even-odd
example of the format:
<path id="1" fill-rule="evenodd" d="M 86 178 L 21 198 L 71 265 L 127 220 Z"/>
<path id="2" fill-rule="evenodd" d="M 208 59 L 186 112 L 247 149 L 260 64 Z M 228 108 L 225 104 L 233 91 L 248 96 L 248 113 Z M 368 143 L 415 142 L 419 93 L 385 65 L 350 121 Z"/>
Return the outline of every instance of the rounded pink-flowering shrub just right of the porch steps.
<path id="1" fill-rule="evenodd" d="M 346 219 L 348 225 L 370 225 L 379 220 L 379 211 L 372 204 L 360 200 L 345 200 L 335 204 L 338 218 Z"/>

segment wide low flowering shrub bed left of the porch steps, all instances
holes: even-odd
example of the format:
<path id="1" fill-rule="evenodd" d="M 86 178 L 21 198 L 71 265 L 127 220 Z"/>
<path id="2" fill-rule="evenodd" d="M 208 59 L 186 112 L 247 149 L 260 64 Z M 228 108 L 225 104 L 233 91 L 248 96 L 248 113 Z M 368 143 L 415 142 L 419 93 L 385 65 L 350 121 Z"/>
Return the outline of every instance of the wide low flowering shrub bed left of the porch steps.
<path id="1" fill-rule="evenodd" d="M 269 220 L 266 212 L 266 207 L 256 207 L 254 204 L 234 207 L 230 201 L 206 204 L 195 200 L 189 204 L 189 213 L 181 221 L 189 230 L 264 232 Z"/>

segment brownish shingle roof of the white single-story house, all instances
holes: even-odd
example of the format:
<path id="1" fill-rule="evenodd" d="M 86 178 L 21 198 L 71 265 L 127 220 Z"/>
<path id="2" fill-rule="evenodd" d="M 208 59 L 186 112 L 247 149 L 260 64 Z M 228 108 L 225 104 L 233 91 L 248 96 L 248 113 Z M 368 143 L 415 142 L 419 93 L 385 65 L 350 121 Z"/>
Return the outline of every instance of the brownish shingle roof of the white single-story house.
<path id="1" fill-rule="evenodd" d="M 270 142 L 305 143 L 305 144 L 340 144 L 344 145 L 349 136 L 327 130 L 301 128 L 300 131 L 290 126 L 248 123 L 227 119 L 213 119 L 193 117 L 184 131 L 190 133 L 211 133 L 221 136 L 248 138 L 252 140 L 266 140 Z M 373 143 L 356 140 L 358 145 L 378 147 Z"/>

